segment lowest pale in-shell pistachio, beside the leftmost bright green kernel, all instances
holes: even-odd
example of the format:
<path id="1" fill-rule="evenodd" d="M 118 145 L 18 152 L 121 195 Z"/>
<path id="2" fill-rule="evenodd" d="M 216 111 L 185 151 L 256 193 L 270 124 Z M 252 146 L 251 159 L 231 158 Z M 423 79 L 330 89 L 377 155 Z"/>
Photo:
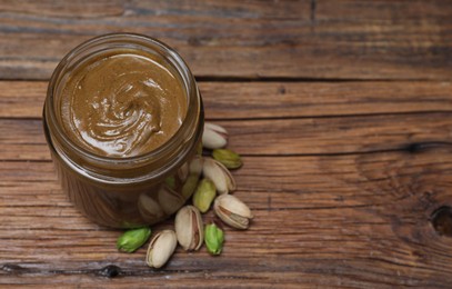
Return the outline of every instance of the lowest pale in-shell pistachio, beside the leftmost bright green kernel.
<path id="1" fill-rule="evenodd" d="M 162 267 L 171 258 L 177 245 L 174 231 L 163 230 L 157 233 L 149 243 L 145 262 L 149 267 Z"/>

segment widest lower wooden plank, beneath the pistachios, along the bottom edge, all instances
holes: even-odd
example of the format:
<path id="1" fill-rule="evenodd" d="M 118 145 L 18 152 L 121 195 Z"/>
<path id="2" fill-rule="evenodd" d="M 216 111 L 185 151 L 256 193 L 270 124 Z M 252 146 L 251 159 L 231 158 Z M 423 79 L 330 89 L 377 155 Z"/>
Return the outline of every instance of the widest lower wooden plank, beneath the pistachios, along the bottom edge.
<path id="1" fill-rule="evenodd" d="M 121 268 L 118 286 L 197 287 L 202 281 L 210 287 L 227 279 L 231 287 L 255 288 L 446 288 L 451 240 L 433 230 L 430 216 L 452 205 L 451 152 L 442 147 L 244 158 L 245 166 L 234 172 L 235 195 L 255 213 L 251 228 L 224 228 L 220 258 L 205 248 L 195 253 L 178 249 L 160 271 L 145 267 L 144 248 L 117 252 L 118 231 L 90 223 L 57 197 L 59 191 L 42 189 L 56 183 L 50 162 L 0 162 L 0 283 L 99 286 L 112 282 L 100 271 L 115 265 Z M 32 198 L 36 181 L 46 186 Z M 12 183 L 19 187 L 10 190 Z M 153 229 L 169 227 L 170 221 Z"/>

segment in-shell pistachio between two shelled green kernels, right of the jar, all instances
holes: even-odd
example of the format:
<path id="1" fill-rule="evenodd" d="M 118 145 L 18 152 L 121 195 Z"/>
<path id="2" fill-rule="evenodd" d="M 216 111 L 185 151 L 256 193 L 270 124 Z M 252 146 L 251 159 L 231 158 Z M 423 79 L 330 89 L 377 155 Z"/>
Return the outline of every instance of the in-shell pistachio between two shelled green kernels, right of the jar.
<path id="1" fill-rule="evenodd" d="M 202 173 L 213 181 L 220 195 L 234 191 L 237 188 L 235 180 L 228 168 L 214 159 L 204 158 Z"/>

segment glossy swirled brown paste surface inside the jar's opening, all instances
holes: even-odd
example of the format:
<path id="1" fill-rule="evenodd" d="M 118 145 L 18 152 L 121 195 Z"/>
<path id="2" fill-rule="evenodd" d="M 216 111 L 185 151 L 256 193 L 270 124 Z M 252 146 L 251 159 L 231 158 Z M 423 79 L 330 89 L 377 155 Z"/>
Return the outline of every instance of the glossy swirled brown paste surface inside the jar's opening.
<path id="1" fill-rule="evenodd" d="M 138 50 L 100 54 L 61 89 L 69 138 L 100 156 L 133 157 L 162 146 L 181 126 L 187 92 L 161 57 Z"/>

